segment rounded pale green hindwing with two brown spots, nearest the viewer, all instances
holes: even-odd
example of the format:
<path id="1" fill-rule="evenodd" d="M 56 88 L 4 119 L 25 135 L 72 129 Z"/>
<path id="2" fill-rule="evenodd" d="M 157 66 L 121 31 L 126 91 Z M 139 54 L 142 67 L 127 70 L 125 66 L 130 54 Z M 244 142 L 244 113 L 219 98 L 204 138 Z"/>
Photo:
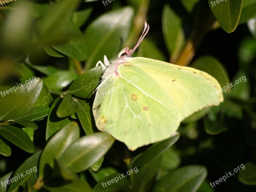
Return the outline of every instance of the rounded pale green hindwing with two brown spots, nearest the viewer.
<path id="1" fill-rule="evenodd" d="M 136 65 L 122 64 L 118 72 L 96 93 L 92 110 L 98 129 L 131 150 L 170 137 L 180 120 L 168 92 Z"/>

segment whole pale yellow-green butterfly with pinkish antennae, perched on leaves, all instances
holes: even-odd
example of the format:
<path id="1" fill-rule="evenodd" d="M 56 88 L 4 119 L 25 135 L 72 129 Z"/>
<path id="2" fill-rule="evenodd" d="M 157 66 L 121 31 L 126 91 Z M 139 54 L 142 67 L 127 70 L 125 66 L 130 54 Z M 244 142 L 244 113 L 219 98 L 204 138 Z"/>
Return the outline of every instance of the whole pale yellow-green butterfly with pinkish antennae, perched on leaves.
<path id="1" fill-rule="evenodd" d="M 209 74 L 190 67 L 143 57 L 132 58 L 149 30 L 145 27 L 133 49 L 124 48 L 118 58 L 104 64 L 93 102 L 97 128 L 124 142 L 130 150 L 169 138 L 180 122 L 196 111 L 218 106 L 220 84 Z"/>

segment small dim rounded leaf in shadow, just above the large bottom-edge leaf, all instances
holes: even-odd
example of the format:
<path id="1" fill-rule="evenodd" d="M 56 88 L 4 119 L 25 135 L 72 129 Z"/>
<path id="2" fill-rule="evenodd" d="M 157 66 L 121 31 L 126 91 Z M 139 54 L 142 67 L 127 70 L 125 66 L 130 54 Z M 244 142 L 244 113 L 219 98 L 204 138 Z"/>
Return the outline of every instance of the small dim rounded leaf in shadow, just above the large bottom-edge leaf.
<path id="1" fill-rule="evenodd" d="M 164 170 L 173 170 L 180 165 L 180 156 L 172 150 L 172 148 L 167 149 L 161 160 L 161 167 Z"/>

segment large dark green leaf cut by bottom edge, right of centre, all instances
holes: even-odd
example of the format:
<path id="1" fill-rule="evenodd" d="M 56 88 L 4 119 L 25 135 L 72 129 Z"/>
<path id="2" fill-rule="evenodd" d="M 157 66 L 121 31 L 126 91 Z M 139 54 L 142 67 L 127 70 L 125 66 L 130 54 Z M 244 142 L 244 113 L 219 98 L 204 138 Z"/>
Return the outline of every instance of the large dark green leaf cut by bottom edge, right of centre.
<path id="1" fill-rule="evenodd" d="M 159 180 L 153 192 L 196 192 L 206 178 L 207 170 L 204 166 L 189 165 L 177 169 Z"/>

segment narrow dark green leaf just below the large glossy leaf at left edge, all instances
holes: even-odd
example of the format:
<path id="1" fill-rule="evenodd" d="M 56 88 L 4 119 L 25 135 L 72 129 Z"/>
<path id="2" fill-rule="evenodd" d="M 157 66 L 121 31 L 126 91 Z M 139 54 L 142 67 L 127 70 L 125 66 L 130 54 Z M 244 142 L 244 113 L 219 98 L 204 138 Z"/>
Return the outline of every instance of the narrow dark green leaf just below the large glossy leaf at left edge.
<path id="1" fill-rule="evenodd" d="M 28 113 L 24 114 L 18 119 L 15 119 L 15 121 L 36 121 L 38 119 L 42 119 L 45 116 L 48 115 L 50 108 L 49 107 L 33 107 L 31 108 Z"/>

